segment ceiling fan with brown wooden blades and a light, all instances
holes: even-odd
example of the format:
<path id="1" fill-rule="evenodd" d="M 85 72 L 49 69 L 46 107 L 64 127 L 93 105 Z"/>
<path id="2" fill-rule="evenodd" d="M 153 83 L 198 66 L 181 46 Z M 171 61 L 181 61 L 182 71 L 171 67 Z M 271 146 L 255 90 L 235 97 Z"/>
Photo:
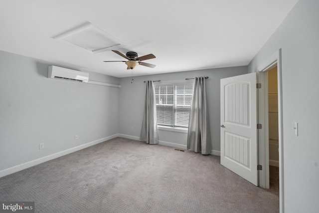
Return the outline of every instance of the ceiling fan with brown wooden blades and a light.
<path id="1" fill-rule="evenodd" d="M 128 65 L 127 69 L 134 69 L 139 64 L 143 65 L 143 66 L 151 67 L 151 68 L 156 67 L 156 65 L 154 65 L 154 64 L 142 62 L 144 60 L 156 58 L 155 55 L 153 55 L 153 54 L 148 54 L 148 55 L 144 55 L 144 56 L 139 57 L 138 53 L 136 53 L 136 52 L 127 52 L 126 55 L 124 55 L 123 53 L 121 53 L 117 50 L 112 50 L 112 51 L 121 55 L 122 57 L 128 59 L 128 61 L 104 61 L 104 62 L 125 62 L 126 65 Z"/>

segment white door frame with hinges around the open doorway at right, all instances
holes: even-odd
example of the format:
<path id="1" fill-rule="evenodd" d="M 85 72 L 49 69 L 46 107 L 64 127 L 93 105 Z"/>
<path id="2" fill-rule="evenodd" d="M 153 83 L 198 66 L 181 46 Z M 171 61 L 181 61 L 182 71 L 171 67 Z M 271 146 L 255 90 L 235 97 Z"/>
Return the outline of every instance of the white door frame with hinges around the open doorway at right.
<path id="1" fill-rule="evenodd" d="M 262 66 L 257 69 L 258 83 L 258 123 L 262 129 L 258 131 L 259 186 L 269 189 L 269 127 L 268 127 L 268 78 L 267 71 L 277 64 L 278 75 L 278 132 L 279 132 L 279 210 L 284 213 L 284 138 L 283 138 L 283 90 L 281 48 L 278 49 Z"/>

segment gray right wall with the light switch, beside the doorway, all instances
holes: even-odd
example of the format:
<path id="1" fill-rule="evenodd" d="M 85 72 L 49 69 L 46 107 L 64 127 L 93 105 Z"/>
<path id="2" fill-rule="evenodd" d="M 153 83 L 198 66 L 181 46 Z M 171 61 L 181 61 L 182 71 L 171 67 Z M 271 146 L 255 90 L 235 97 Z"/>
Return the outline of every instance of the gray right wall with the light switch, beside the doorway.
<path id="1" fill-rule="evenodd" d="M 282 48 L 284 207 L 319 210 L 319 1 L 300 0 L 248 66 Z M 299 136 L 293 122 L 299 123 Z"/>

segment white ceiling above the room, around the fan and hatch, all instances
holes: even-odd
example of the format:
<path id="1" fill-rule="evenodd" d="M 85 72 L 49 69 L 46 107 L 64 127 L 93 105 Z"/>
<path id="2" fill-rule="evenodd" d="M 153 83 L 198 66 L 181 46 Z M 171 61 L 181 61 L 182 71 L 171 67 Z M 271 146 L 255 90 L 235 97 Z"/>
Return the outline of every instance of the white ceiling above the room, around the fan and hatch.
<path id="1" fill-rule="evenodd" d="M 115 77 L 131 76 L 111 50 L 90 53 L 52 37 L 92 23 L 115 48 L 155 68 L 134 75 L 248 65 L 298 0 L 1 0 L 0 50 Z"/>

